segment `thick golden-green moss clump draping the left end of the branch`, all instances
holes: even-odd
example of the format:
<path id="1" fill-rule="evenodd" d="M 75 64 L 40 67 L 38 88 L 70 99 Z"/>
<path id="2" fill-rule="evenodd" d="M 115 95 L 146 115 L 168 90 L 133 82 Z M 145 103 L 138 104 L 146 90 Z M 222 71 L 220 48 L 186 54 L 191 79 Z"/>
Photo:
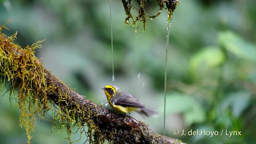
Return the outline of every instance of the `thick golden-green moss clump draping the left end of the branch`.
<path id="1" fill-rule="evenodd" d="M 2 28 L 0 27 L 0 32 Z M 7 28 L 6 28 L 7 29 Z M 0 74 L 10 81 L 10 97 L 18 102 L 21 111 L 20 126 L 24 126 L 28 135 L 28 142 L 31 139 L 30 132 L 36 122 L 35 114 L 42 110 L 48 111 L 46 91 L 48 86 L 44 78 L 42 63 L 34 56 L 34 49 L 40 47 L 37 42 L 32 46 L 26 46 L 20 51 L 20 46 L 13 44 L 17 32 L 6 37 L 0 34 Z"/>

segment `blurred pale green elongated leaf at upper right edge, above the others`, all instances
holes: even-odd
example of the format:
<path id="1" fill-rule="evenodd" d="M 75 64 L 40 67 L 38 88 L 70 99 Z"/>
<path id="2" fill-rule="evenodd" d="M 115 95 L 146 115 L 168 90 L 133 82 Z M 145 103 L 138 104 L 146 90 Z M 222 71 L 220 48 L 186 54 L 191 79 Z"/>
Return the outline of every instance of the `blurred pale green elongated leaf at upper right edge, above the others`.
<path id="1" fill-rule="evenodd" d="M 218 41 L 221 46 L 235 56 L 247 60 L 256 60 L 256 45 L 244 41 L 240 36 L 234 34 L 234 32 L 220 32 L 218 34 Z"/>

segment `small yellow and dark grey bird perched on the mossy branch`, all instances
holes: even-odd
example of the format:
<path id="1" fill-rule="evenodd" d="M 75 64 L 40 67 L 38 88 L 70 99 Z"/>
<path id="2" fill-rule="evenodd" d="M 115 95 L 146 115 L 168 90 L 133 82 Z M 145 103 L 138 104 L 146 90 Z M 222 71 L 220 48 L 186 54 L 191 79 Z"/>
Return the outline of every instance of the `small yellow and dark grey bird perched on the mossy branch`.
<path id="1" fill-rule="evenodd" d="M 146 108 L 136 98 L 134 98 L 134 96 L 121 92 L 116 86 L 107 85 L 102 89 L 107 96 L 108 103 L 116 111 L 128 113 L 135 110 L 145 116 L 158 115 L 158 112 L 155 112 L 150 108 Z"/>

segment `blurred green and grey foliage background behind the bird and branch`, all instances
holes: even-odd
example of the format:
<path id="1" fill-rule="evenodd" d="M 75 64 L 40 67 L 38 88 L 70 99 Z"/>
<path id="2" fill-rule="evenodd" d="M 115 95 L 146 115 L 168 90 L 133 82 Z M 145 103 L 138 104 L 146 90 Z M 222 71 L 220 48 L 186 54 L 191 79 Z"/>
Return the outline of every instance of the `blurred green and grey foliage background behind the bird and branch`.
<path id="1" fill-rule="evenodd" d="M 170 29 L 166 135 L 192 144 L 256 142 L 256 2 L 179 2 Z M 147 0 L 146 13 L 156 14 L 155 5 Z M 163 134 L 167 13 L 147 19 L 145 32 L 141 23 L 138 34 L 125 18 L 121 0 L 112 0 L 114 84 L 160 112 L 156 118 L 130 116 Z M 45 67 L 87 99 L 110 108 L 100 89 L 113 84 L 109 0 L 0 0 L 0 25 L 9 19 L 4 34 L 17 31 L 14 42 L 23 47 L 45 39 L 36 49 Z M 26 144 L 17 103 L 5 92 L 0 92 L 0 144 Z M 182 130 L 219 135 L 181 136 Z M 226 136 L 226 130 L 241 131 L 241 136 Z M 51 122 L 38 119 L 32 144 L 68 143 L 64 128 L 51 131 Z M 73 141 L 79 137 L 72 134 Z M 86 140 L 83 136 L 76 143 Z"/>

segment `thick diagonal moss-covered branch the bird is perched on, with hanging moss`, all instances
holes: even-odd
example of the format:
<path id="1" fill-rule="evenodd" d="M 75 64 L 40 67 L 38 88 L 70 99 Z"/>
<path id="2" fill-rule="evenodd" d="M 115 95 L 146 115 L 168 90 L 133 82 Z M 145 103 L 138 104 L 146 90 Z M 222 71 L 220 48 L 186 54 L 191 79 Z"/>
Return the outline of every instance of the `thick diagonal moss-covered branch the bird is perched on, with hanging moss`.
<path id="1" fill-rule="evenodd" d="M 154 133 L 147 124 L 130 116 L 123 121 L 124 115 L 103 108 L 71 90 L 36 58 L 34 49 L 40 47 L 39 42 L 21 48 L 13 42 L 17 32 L 5 36 L 2 28 L 6 27 L 0 27 L 0 78 L 2 82 L 8 80 L 10 98 L 14 97 L 18 102 L 20 125 L 26 128 L 28 143 L 36 115 L 44 118 L 49 110 L 53 111 L 54 127 L 57 122 L 61 123 L 60 128 L 66 127 L 70 143 L 72 125 L 80 130 L 88 126 L 88 140 L 96 144 L 105 140 L 110 143 L 161 144 L 164 138 L 166 144 L 182 143 Z"/>

